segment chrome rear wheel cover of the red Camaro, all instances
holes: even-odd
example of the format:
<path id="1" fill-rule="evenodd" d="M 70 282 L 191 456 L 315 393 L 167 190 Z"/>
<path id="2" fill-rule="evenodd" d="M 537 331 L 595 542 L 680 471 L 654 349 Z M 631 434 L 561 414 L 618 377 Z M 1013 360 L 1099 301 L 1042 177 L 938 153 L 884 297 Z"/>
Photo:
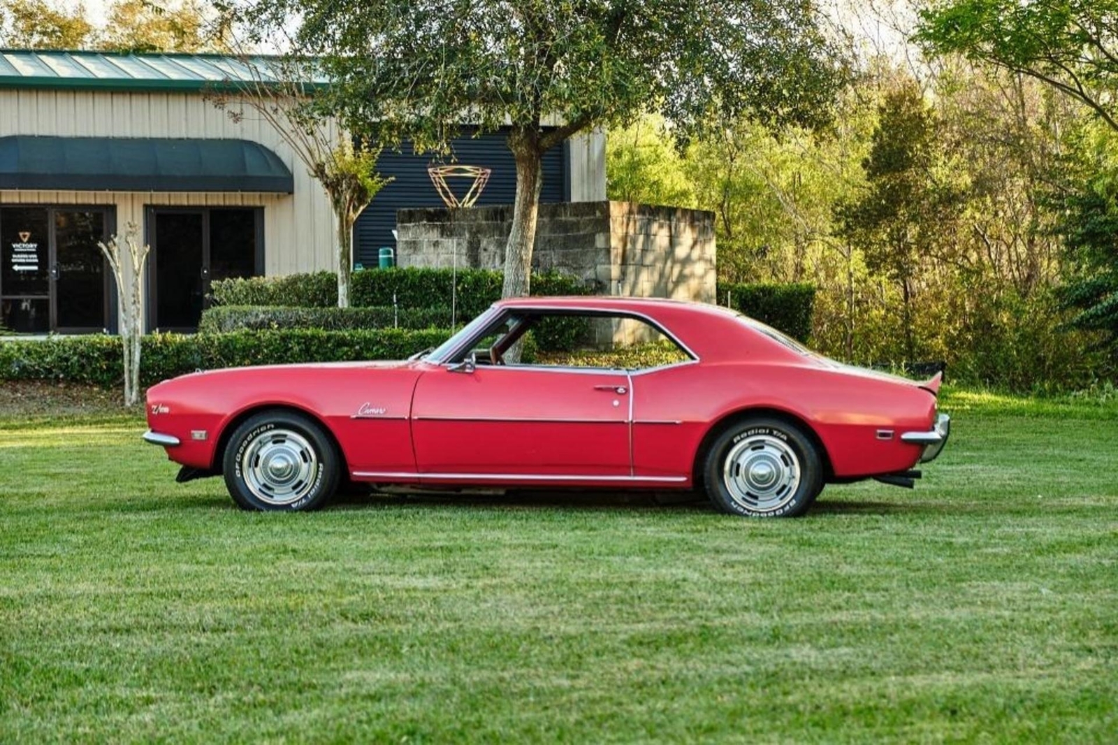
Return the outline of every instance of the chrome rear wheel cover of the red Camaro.
<path id="1" fill-rule="evenodd" d="M 755 512 L 770 512 L 790 502 L 800 475 L 796 452 L 784 440 L 767 434 L 735 443 L 722 464 L 722 482 L 730 498 Z"/>

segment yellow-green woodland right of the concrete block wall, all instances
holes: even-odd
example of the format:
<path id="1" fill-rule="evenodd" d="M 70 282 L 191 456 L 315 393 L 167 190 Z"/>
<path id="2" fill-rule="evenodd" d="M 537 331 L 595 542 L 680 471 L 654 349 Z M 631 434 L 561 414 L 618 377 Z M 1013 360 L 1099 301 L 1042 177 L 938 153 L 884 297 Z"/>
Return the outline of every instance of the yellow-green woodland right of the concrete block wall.
<path id="1" fill-rule="evenodd" d="M 870 55 L 823 131 L 610 134 L 609 196 L 713 211 L 720 287 L 813 285 L 828 356 L 1013 390 L 1115 376 L 1118 135 L 1043 82 Z"/>

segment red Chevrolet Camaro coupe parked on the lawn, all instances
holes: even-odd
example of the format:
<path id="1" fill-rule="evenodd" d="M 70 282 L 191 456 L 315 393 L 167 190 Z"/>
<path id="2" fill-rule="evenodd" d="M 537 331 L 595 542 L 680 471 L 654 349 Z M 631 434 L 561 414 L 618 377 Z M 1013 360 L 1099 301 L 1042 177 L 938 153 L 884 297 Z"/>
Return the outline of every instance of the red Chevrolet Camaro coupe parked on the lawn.
<path id="1" fill-rule="evenodd" d="M 314 509 L 368 482 L 705 489 L 733 515 L 792 517 L 828 482 L 911 487 L 947 441 L 939 384 L 835 362 L 714 305 L 524 298 L 405 361 L 161 383 L 144 440 L 180 481 L 224 474 L 245 509 Z"/>

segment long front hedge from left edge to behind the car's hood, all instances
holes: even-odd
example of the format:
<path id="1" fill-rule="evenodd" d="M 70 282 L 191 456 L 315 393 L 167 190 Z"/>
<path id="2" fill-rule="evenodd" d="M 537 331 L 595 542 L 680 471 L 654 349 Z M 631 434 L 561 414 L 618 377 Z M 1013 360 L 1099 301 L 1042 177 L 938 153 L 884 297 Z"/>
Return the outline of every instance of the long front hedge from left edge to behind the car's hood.
<path id="1" fill-rule="evenodd" d="M 404 359 L 449 336 L 440 329 L 155 333 L 143 338 L 140 379 L 152 385 L 199 369 Z M 91 334 L 0 343 L 0 380 L 68 380 L 111 387 L 120 385 L 122 378 L 120 337 Z"/>

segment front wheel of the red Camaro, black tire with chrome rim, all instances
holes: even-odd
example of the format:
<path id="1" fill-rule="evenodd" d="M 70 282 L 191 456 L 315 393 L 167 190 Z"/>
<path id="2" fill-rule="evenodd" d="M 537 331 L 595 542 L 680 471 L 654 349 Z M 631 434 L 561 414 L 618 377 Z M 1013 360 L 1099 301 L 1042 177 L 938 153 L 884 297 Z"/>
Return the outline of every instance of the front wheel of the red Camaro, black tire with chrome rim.
<path id="1" fill-rule="evenodd" d="M 229 496 L 245 510 L 314 510 L 330 501 L 341 480 L 341 458 L 322 426 L 287 411 L 245 419 L 229 437 L 221 465 Z"/>

